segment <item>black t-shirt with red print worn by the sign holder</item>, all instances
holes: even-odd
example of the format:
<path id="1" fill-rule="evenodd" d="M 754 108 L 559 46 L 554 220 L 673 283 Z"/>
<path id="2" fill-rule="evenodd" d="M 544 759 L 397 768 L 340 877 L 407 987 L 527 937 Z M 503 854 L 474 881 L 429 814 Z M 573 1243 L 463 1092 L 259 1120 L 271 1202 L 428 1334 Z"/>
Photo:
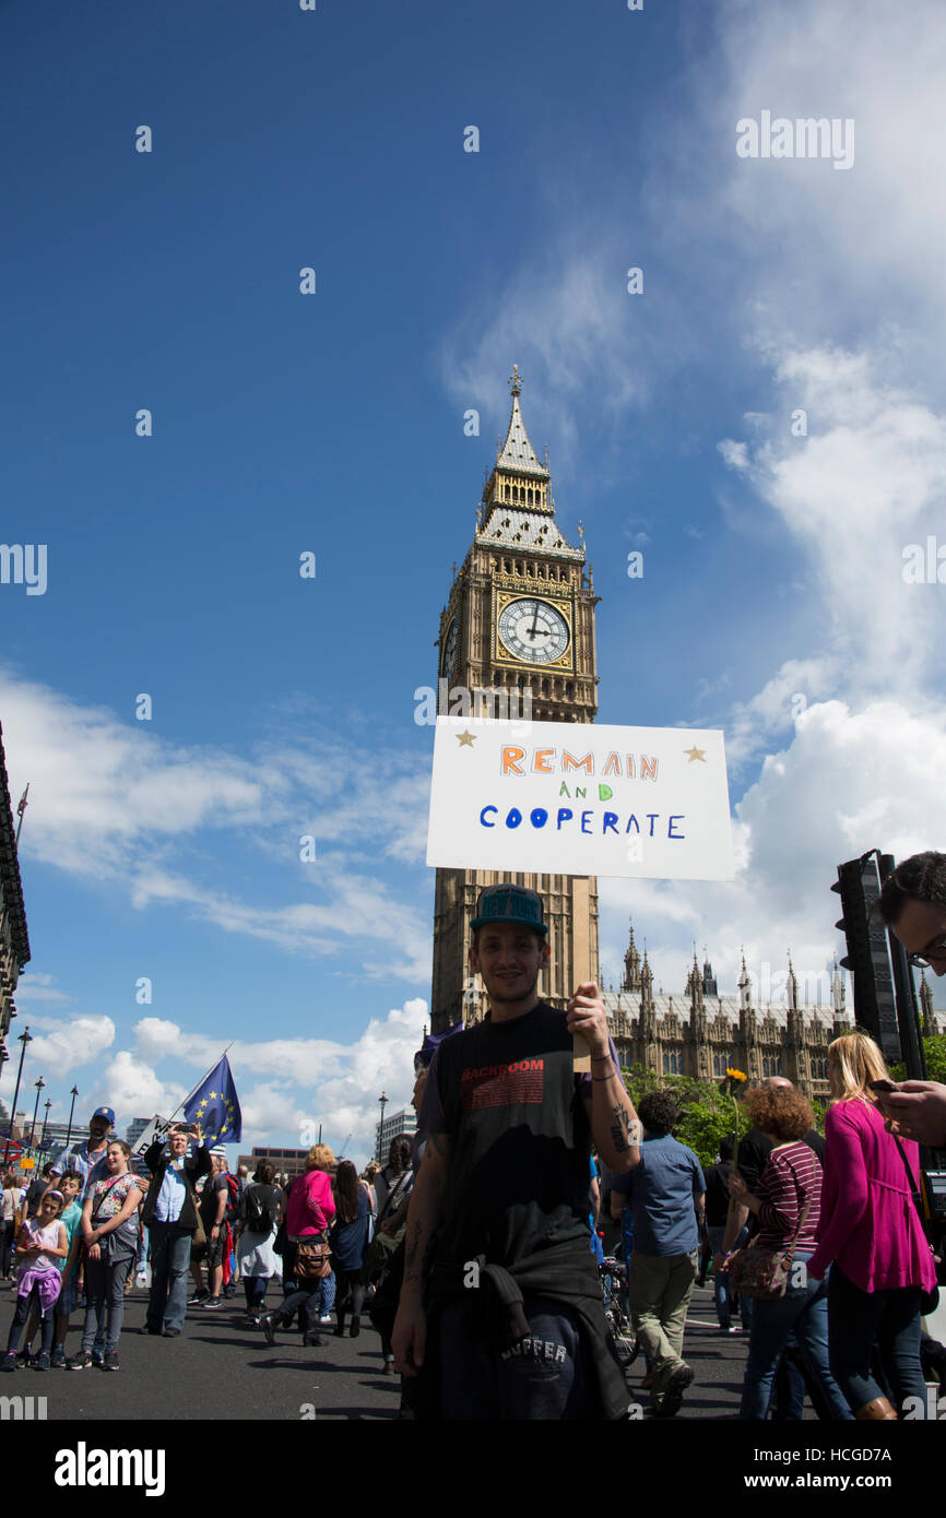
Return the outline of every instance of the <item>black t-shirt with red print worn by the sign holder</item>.
<path id="1" fill-rule="evenodd" d="M 440 1258 L 510 1264 L 588 1237 L 583 1084 L 566 1016 L 545 1002 L 440 1044 L 419 1114 L 425 1134 L 451 1138 Z"/>

